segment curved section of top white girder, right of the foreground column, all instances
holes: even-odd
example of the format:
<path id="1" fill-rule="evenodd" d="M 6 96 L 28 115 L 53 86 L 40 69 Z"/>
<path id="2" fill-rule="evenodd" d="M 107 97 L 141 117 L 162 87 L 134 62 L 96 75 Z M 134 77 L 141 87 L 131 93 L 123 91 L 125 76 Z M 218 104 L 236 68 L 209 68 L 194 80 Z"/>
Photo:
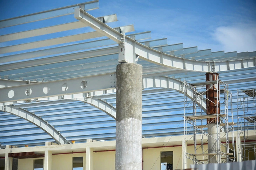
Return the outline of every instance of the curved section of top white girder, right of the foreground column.
<path id="1" fill-rule="evenodd" d="M 130 42 L 132 41 L 130 38 Z M 130 43 L 132 44 L 132 43 Z M 181 57 L 171 56 L 166 53 L 162 53 L 157 50 L 153 50 L 145 45 L 136 42 L 135 53 L 141 59 L 155 63 L 160 66 L 176 68 L 187 71 L 195 72 L 219 72 L 227 71 L 231 69 L 240 69 L 254 67 L 255 59 L 243 59 L 233 61 L 220 61 L 220 62 L 209 62 L 209 61 L 197 61 L 190 60 Z"/>

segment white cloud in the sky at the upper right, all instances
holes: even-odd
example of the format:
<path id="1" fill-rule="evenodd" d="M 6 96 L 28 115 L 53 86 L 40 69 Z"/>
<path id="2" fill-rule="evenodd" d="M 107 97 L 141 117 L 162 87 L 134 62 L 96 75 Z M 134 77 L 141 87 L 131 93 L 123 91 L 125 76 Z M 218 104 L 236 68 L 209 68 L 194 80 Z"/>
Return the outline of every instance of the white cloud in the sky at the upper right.
<path id="1" fill-rule="evenodd" d="M 225 52 L 256 51 L 256 25 L 218 27 L 213 36 Z"/>

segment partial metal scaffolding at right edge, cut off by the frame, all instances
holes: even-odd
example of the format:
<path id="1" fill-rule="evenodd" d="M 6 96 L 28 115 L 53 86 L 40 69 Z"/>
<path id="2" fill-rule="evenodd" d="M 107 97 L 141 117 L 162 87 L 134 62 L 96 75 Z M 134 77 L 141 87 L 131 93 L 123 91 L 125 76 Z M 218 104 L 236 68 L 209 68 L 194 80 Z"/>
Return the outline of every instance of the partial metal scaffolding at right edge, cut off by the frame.
<path id="1" fill-rule="evenodd" d="M 255 89 L 237 90 L 237 136 L 238 140 L 241 140 L 238 143 L 238 161 L 256 158 L 256 142 L 248 138 L 248 130 L 254 130 L 254 133 L 256 133 L 256 113 L 250 111 L 250 108 L 255 106 Z"/>

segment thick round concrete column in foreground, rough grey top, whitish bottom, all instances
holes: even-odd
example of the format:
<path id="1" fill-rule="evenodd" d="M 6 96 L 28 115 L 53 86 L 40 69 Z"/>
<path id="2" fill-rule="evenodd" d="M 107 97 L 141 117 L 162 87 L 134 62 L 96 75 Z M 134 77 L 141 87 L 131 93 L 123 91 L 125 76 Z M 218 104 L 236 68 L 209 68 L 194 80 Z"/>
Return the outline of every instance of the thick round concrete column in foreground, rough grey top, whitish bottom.
<path id="1" fill-rule="evenodd" d="M 115 170 L 141 170 L 142 66 L 116 67 Z"/>

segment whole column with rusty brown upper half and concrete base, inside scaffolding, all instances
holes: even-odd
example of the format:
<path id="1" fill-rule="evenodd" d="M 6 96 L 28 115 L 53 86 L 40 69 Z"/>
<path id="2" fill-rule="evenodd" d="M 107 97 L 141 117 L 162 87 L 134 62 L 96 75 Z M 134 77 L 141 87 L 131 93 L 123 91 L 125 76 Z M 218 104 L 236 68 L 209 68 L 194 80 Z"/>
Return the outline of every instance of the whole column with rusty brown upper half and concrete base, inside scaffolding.
<path id="1" fill-rule="evenodd" d="M 206 81 L 218 81 L 218 73 L 207 73 Z M 207 114 L 220 114 L 220 85 L 217 82 L 206 85 L 206 112 Z M 216 154 L 208 156 L 208 163 L 218 163 L 218 150 L 220 149 L 219 119 L 208 118 L 208 153 Z"/>

